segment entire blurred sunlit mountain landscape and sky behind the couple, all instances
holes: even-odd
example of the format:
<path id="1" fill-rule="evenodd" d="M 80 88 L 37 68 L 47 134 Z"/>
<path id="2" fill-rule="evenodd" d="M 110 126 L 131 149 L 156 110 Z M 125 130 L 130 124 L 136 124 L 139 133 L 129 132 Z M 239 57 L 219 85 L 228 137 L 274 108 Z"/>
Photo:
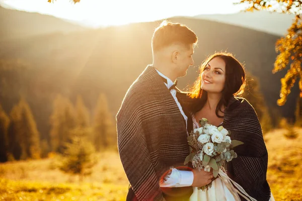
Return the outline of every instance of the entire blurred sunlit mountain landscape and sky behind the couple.
<path id="1" fill-rule="evenodd" d="M 302 200 L 301 1 L 0 0 L 0 200 L 125 200 L 115 115 L 168 19 L 244 63 L 276 200 Z M 301 17 L 301 18 L 300 18 Z M 299 95 L 300 94 L 300 95 Z"/>

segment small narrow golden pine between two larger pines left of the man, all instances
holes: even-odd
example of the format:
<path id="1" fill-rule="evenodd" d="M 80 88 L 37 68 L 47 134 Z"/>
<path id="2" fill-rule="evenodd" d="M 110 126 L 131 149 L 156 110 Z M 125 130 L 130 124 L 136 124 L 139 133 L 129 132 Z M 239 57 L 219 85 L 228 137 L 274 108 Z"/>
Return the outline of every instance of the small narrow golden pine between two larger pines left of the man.
<path id="1" fill-rule="evenodd" d="M 89 112 L 86 108 L 83 98 L 78 95 L 77 103 L 75 104 L 75 108 L 77 111 L 77 126 L 81 128 L 87 128 L 90 125 Z"/>

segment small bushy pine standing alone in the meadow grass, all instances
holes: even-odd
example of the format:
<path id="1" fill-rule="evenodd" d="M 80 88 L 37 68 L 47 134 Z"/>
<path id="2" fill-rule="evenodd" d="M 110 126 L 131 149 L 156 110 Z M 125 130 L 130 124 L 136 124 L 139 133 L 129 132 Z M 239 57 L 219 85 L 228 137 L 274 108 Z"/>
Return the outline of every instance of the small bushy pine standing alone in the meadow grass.
<path id="1" fill-rule="evenodd" d="M 71 140 L 66 143 L 60 170 L 70 174 L 78 174 L 80 181 L 92 173 L 97 163 L 94 146 L 88 141 L 89 129 L 76 128 L 70 132 Z"/>

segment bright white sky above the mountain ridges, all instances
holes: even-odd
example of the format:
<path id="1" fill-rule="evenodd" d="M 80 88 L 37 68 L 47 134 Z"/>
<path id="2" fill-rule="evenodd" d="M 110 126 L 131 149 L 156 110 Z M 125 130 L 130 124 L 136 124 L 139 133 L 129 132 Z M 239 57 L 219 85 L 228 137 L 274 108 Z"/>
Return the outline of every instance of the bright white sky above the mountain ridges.
<path id="1" fill-rule="evenodd" d="M 71 1 L 71 0 L 70 0 Z M 52 15 L 89 27 L 149 22 L 174 16 L 232 14 L 244 9 L 238 0 L 0 0 L 5 8 Z"/>

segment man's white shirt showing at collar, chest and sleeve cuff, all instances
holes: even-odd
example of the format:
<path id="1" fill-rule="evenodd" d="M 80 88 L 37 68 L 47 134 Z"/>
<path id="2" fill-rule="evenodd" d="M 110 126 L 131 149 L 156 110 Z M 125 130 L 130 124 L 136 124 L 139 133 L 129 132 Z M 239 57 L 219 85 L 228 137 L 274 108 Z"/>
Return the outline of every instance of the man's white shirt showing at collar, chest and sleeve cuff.
<path id="1" fill-rule="evenodd" d="M 162 77 L 164 77 L 165 79 L 167 79 L 167 83 L 166 86 L 169 89 L 172 85 L 173 85 L 173 81 L 171 79 L 169 79 L 167 76 L 165 76 L 163 73 L 161 73 L 160 71 L 156 70 L 159 75 L 161 75 Z M 175 89 L 171 89 L 170 93 L 172 94 L 179 110 L 180 113 L 182 114 L 182 116 L 185 119 L 186 122 L 186 127 L 188 126 L 188 117 L 185 115 L 182 106 L 180 105 L 177 97 L 176 97 L 176 90 Z M 189 145 L 188 145 L 189 146 Z M 193 183 L 193 179 L 194 179 L 194 174 L 192 171 L 184 171 L 184 170 L 178 170 L 175 168 L 172 168 L 172 172 L 170 174 L 170 176 L 166 177 L 166 181 L 162 184 L 160 184 L 161 187 L 184 187 L 184 186 L 191 186 Z"/>

